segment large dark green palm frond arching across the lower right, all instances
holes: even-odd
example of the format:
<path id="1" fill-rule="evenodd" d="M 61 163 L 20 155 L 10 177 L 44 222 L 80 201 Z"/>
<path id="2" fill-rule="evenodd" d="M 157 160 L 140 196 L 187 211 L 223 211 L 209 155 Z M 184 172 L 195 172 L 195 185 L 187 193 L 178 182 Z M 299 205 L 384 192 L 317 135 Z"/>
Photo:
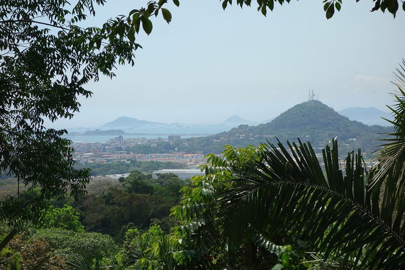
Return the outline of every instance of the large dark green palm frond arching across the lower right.
<path id="1" fill-rule="evenodd" d="M 368 190 L 374 171 L 366 173 L 360 150 L 341 168 L 337 142 L 330 144 L 323 150 L 327 177 L 311 145 L 298 139 L 289 149 L 270 144 L 253 170 L 234 179 L 240 185 L 221 194 L 215 221 L 230 247 L 259 232 L 292 236 L 327 257 L 343 256 L 343 264 L 351 258 L 364 268 L 405 263 L 404 225 L 398 219 L 392 225 L 396 198 L 386 188 L 380 207 L 379 193 Z"/>

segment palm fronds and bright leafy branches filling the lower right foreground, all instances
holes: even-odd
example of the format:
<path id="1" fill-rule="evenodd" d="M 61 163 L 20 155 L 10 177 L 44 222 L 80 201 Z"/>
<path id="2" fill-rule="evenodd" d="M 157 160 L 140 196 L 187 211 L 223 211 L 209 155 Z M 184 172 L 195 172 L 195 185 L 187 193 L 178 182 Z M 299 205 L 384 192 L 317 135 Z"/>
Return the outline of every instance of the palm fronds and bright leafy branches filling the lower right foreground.
<path id="1" fill-rule="evenodd" d="M 180 245 L 165 256 L 178 267 L 259 269 L 280 262 L 291 244 L 304 268 L 405 268 L 404 67 L 378 165 L 367 169 L 360 150 L 340 159 L 335 139 L 321 161 L 299 139 L 227 146 L 173 207 Z"/>

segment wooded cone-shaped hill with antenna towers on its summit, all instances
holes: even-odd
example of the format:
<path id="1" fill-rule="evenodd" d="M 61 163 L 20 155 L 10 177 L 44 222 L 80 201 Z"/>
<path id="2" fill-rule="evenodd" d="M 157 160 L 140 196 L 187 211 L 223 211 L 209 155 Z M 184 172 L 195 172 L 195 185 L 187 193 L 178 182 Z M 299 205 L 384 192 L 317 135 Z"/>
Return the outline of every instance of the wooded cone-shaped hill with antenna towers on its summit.
<path id="1" fill-rule="evenodd" d="M 314 148 L 323 148 L 332 138 L 337 136 L 341 155 L 361 148 L 366 157 L 369 153 L 378 150 L 380 143 L 373 139 L 381 138 L 378 133 L 388 133 L 392 129 L 382 126 L 367 126 L 358 121 L 340 115 L 331 107 L 320 101 L 307 101 L 295 105 L 280 114 L 273 121 L 258 126 L 240 125 L 228 132 L 213 136 L 187 139 L 186 146 L 177 146 L 181 151 L 196 151 L 204 149 L 205 153 L 220 153 L 223 145 L 233 147 L 258 146 L 260 142 L 282 143 L 297 141 L 310 141 Z M 187 149 L 188 148 L 188 149 Z M 197 150 L 198 149 L 198 150 Z M 368 155 L 368 156 L 375 156 Z"/>

